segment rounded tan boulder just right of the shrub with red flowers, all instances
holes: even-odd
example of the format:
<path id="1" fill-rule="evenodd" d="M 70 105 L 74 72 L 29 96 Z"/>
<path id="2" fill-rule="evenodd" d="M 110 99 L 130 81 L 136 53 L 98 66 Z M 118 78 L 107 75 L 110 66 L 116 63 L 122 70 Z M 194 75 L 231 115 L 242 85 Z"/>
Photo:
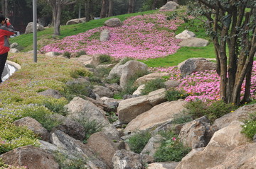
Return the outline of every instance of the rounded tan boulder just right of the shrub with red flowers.
<path id="1" fill-rule="evenodd" d="M 203 116 L 184 124 L 178 138 L 188 147 L 201 148 L 207 146 L 210 138 L 217 130 L 217 127 L 210 125 L 207 117 Z"/>

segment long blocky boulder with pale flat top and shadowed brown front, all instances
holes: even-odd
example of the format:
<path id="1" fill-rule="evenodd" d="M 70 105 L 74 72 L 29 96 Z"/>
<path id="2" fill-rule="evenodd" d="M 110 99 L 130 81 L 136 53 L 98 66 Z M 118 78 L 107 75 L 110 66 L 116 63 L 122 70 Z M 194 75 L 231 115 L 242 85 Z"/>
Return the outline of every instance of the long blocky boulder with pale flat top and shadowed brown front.
<path id="1" fill-rule="evenodd" d="M 135 117 L 166 101 L 166 89 L 162 88 L 137 98 L 122 100 L 117 107 L 120 122 L 131 122 Z"/>

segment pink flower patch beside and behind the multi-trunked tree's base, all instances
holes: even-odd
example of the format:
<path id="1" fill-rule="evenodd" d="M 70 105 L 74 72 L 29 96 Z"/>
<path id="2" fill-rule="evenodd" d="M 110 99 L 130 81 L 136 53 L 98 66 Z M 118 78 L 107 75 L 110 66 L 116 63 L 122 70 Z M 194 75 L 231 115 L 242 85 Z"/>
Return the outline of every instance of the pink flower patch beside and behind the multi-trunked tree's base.
<path id="1" fill-rule="evenodd" d="M 181 72 L 177 66 L 152 68 L 151 71 L 167 72 L 169 73 L 170 79 L 180 81 L 181 84 L 176 90 L 188 93 L 187 101 L 195 100 L 196 98 L 203 101 L 220 99 L 220 77 L 216 74 L 215 70 L 196 72 L 184 78 L 181 77 Z M 253 62 L 251 84 L 251 97 L 252 99 L 256 99 L 256 61 Z M 242 84 L 242 95 L 244 92 L 245 83 Z"/>

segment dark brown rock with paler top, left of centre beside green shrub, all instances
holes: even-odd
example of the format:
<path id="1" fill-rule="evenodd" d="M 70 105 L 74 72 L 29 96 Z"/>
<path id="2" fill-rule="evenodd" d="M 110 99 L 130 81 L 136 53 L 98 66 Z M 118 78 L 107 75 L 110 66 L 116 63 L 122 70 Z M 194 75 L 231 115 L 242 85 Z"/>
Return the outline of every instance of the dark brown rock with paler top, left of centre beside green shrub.
<path id="1" fill-rule="evenodd" d="M 85 139 L 85 129 L 79 122 L 66 119 L 62 124 L 55 127 L 55 129 L 72 136 L 74 139 L 83 141 Z"/>

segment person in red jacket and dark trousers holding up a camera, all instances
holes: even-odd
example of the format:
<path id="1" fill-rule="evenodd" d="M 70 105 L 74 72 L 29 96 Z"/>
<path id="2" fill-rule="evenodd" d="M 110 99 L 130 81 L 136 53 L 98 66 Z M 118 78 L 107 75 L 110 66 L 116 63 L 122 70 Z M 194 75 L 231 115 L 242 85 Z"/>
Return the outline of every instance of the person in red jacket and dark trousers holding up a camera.
<path id="1" fill-rule="evenodd" d="M 10 50 L 8 38 L 11 35 L 14 35 L 14 27 L 8 18 L 0 14 L 0 83 L 2 82 L 1 74 L 3 74 L 4 65 Z"/>

